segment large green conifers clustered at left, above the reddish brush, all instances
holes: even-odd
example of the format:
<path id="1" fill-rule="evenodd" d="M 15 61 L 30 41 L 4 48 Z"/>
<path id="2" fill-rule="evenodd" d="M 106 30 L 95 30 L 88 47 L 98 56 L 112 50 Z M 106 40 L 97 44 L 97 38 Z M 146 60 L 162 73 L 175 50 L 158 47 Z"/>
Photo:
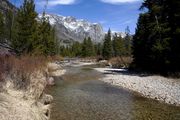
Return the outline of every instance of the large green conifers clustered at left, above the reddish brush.
<path id="1" fill-rule="evenodd" d="M 0 12 L 0 43 L 8 43 L 17 55 L 55 55 L 55 29 L 45 12 L 41 20 L 37 16 L 34 0 L 24 0 L 17 12 Z"/>

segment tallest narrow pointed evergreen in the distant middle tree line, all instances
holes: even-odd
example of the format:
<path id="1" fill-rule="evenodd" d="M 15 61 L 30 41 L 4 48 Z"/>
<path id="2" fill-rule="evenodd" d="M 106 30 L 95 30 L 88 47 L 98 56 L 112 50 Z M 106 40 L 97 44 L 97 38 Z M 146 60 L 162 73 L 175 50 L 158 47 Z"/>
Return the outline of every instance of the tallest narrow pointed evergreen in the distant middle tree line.
<path id="1" fill-rule="evenodd" d="M 107 35 L 105 35 L 105 40 L 103 44 L 103 57 L 105 59 L 110 59 L 113 54 L 113 49 L 112 49 L 112 41 L 111 41 L 111 30 L 108 30 Z"/>

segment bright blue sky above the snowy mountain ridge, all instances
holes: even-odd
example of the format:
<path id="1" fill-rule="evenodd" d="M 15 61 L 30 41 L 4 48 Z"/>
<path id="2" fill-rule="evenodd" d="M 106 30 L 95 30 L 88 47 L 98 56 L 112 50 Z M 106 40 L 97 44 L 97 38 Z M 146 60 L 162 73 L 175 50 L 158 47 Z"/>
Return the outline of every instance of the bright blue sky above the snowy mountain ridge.
<path id="1" fill-rule="evenodd" d="M 10 0 L 19 6 L 23 0 Z M 41 13 L 46 0 L 36 0 L 36 10 Z M 134 33 L 139 7 L 143 0 L 49 0 L 47 12 L 74 16 L 103 25 L 104 31 L 124 31 L 127 26 Z"/>

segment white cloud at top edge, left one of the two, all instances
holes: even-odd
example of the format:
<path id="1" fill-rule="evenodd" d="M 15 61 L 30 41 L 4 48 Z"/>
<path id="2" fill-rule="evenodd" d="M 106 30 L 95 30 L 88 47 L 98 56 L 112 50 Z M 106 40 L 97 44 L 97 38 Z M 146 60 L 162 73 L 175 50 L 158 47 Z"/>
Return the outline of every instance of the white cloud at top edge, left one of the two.
<path id="1" fill-rule="evenodd" d="M 55 6 L 55 5 L 70 5 L 76 3 L 77 0 L 49 0 L 48 5 L 49 6 Z M 39 2 L 40 4 L 45 4 L 46 0 L 43 0 Z"/>

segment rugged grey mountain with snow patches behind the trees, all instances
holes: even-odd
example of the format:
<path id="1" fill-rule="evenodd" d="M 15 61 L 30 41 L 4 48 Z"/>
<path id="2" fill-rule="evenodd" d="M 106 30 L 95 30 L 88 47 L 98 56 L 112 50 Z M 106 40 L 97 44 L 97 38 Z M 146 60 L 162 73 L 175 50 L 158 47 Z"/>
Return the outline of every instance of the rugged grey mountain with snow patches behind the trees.
<path id="1" fill-rule="evenodd" d="M 91 37 L 94 42 L 100 42 L 104 38 L 103 27 L 98 23 L 54 14 L 46 14 L 45 17 L 49 18 L 50 24 L 55 26 L 58 38 L 64 42 L 82 42 L 85 37 Z M 39 18 L 42 18 L 41 14 Z"/>

